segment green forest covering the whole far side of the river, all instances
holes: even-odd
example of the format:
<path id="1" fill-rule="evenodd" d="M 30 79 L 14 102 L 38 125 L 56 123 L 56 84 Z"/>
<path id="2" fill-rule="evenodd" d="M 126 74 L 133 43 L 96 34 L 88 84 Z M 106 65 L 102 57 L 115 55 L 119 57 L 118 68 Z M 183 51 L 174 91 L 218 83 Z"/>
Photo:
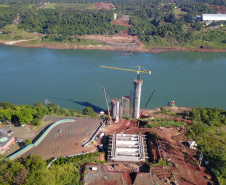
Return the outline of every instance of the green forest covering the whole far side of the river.
<path id="1" fill-rule="evenodd" d="M 150 45 L 225 48 L 226 29 L 210 29 L 211 26 L 225 22 L 213 22 L 203 27 L 194 17 L 203 13 L 217 13 L 217 9 L 210 5 L 226 6 L 222 0 L 145 0 L 145 1 L 108 1 L 115 4 L 115 10 L 95 10 L 90 8 L 93 0 L 68 1 L 71 6 L 65 6 L 67 1 L 52 0 L 56 6 L 51 8 L 38 8 L 41 1 L 0 0 L 0 30 L 10 34 L 7 25 L 18 20 L 16 26 L 28 33 L 41 33 L 45 35 L 63 35 L 76 37 L 80 35 L 114 35 L 126 29 L 132 36 L 139 36 L 143 43 Z M 45 1 L 43 1 L 44 3 Z M 47 2 L 47 1 L 46 1 Z M 125 3 L 126 2 L 126 3 Z M 58 3 L 58 4 L 57 4 Z M 89 3 L 89 8 L 81 7 Z M 2 5 L 1 5 L 2 4 Z M 129 15 L 130 27 L 118 27 L 112 24 L 113 13 L 120 16 Z M 217 36 L 213 36 L 217 35 Z M 1 38 L 1 37 L 0 37 Z M 43 40 L 44 41 L 44 40 Z M 56 37 L 56 42 L 58 38 Z M 70 42 L 70 40 L 68 40 Z"/>

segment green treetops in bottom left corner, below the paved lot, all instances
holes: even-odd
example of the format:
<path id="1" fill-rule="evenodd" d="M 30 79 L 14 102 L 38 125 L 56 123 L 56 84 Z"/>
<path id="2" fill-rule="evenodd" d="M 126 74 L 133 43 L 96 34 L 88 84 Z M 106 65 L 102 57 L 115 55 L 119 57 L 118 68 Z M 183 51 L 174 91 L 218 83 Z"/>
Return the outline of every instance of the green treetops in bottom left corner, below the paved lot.
<path id="1" fill-rule="evenodd" d="M 58 158 L 47 168 L 50 160 L 30 155 L 17 161 L 5 160 L 0 155 L 0 184 L 9 185 L 58 185 L 82 184 L 81 167 L 86 163 L 102 163 L 98 160 L 101 153 L 95 152 L 70 158 Z"/>

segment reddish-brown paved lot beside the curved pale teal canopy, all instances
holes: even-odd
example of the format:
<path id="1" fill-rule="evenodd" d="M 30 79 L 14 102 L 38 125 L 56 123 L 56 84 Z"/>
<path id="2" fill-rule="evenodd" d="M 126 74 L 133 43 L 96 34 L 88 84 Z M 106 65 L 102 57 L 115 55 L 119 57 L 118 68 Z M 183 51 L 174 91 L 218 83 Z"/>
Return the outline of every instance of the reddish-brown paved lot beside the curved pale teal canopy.
<path id="1" fill-rule="evenodd" d="M 76 118 L 74 122 L 62 123 L 38 145 L 23 154 L 41 155 L 45 159 L 95 151 L 96 147 L 82 145 L 87 142 L 100 125 L 101 119 Z M 59 133 L 59 130 L 62 131 Z"/>

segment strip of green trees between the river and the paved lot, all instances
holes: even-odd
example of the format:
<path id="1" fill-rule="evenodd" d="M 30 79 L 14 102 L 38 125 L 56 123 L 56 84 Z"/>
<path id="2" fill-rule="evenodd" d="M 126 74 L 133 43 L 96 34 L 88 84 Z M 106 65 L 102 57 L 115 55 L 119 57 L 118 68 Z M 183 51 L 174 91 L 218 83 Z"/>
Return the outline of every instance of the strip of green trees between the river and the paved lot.
<path id="1" fill-rule="evenodd" d="M 43 105 L 42 103 L 37 102 L 33 106 L 17 106 L 7 102 L 0 103 L 0 120 L 2 120 L 4 124 L 12 122 L 19 124 L 31 123 L 32 125 L 39 125 L 42 118 L 46 115 L 97 117 L 97 114 L 91 107 L 86 107 L 83 109 L 83 112 L 81 112 L 78 110 L 61 108 L 53 103 Z"/>

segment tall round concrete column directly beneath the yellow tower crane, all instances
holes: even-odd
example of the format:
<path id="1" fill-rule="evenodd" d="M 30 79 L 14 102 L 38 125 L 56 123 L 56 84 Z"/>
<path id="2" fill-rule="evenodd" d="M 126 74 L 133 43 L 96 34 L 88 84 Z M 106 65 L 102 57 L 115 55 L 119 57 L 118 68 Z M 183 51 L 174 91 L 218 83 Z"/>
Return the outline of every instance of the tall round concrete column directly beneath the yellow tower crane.
<path id="1" fill-rule="evenodd" d="M 134 83 L 134 97 L 133 97 L 133 117 L 139 118 L 140 115 L 140 98 L 141 98 L 141 86 L 143 80 L 135 79 Z"/>

